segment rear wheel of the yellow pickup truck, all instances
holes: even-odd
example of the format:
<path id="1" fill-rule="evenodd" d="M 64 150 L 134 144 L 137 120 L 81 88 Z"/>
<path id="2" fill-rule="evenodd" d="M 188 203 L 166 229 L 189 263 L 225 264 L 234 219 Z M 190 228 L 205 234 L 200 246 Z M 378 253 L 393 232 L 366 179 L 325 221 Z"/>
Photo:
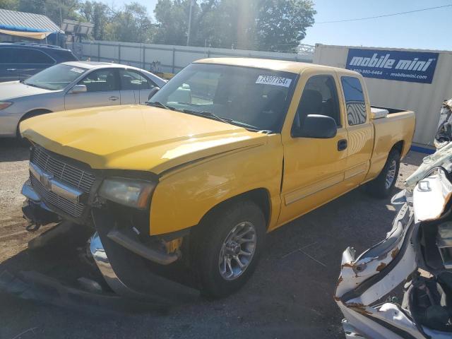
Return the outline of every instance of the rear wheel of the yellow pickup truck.
<path id="1" fill-rule="evenodd" d="M 400 152 L 392 149 L 379 176 L 369 182 L 367 186 L 369 194 L 376 198 L 387 198 L 390 196 L 397 182 L 399 168 Z"/>

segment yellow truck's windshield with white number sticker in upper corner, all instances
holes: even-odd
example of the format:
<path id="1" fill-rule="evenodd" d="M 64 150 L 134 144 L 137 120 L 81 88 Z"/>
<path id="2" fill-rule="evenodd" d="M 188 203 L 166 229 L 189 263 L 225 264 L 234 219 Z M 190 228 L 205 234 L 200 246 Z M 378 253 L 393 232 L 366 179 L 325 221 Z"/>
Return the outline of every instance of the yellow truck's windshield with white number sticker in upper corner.
<path id="1" fill-rule="evenodd" d="M 191 64 L 148 102 L 256 131 L 280 132 L 297 74 Z"/>

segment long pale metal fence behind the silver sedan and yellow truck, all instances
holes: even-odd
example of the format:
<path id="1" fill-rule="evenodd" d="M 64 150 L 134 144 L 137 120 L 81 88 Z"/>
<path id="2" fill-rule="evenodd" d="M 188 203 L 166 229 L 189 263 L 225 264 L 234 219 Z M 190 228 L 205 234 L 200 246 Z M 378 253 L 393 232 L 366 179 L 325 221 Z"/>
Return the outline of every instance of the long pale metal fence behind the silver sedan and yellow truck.
<path id="1" fill-rule="evenodd" d="M 97 40 L 83 40 L 71 47 L 82 60 L 115 62 L 167 73 L 177 73 L 195 60 L 210 57 L 251 57 L 304 62 L 312 62 L 314 57 L 313 49 L 309 49 L 307 45 L 299 54 Z"/>

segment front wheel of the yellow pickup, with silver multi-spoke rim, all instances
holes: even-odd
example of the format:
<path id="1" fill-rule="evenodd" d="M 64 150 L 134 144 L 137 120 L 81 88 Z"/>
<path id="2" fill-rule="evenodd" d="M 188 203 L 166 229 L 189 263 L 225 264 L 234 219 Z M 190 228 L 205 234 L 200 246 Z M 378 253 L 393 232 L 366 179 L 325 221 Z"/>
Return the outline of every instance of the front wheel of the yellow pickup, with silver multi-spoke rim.
<path id="1" fill-rule="evenodd" d="M 193 264 L 201 294 L 225 297 L 239 290 L 256 268 L 265 242 L 266 219 L 256 203 L 237 201 L 213 210 L 193 235 Z M 239 243 L 239 239 L 247 241 Z M 239 267 L 237 258 L 244 268 Z"/>

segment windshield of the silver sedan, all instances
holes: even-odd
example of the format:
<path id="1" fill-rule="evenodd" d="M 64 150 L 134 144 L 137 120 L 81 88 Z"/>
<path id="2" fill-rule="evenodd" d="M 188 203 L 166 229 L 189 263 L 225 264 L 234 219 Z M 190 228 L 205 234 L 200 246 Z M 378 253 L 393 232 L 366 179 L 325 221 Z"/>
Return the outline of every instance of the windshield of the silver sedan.
<path id="1" fill-rule="evenodd" d="M 85 73 L 85 71 L 87 69 L 82 69 L 81 67 L 58 64 L 44 69 L 40 73 L 36 73 L 23 83 L 25 85 L 45 88 L 46 90 L 62 90 Z"/>

